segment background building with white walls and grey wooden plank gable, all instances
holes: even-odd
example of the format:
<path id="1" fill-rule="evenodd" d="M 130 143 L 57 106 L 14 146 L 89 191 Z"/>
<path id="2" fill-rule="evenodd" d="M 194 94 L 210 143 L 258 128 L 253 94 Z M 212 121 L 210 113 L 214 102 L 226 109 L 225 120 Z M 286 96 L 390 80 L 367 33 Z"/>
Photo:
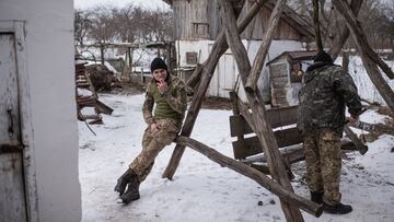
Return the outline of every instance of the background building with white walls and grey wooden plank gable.
<path id="1" fill-rule="evenodd" d="M 175 47 L 177 50 L 177 63 L 179 69 L 196 67 L 202 63 L 212 48 L 215 39 L 222 28 L 220 5 L 218 0 L 165 0 L 174 10 L 175 21 Z M 254 1 L 247 1 L 240 17 L 253 5 Z M 268 26 L 269 15 L 275 7 L 275 1 L 264 5 L 258 15 L 242 33 L 241 38 L 253 62 L 262 44 L 265 30 Z M 276 58 L 283 51 L 301 50 L 314 40 L 313 26 L 302 20 L 293 10 L 286 7 L 279 25 L 274 35 L 273 43 L 266 61 Z M 190 71 L 188 71 L 192 73 Z M 210 86 L 208 96 L 229 97 L 229 90 L 233 89 L 237 75 L 235 60 L 229 49 L 220 59 Z M 269 91 L 269 69 L 264 68 L 258 81 L 262 92 Z M 241 97 L 243 96 L 240 92 Z M 265 101 L 269 102 L 269 95 L 265 93 Z"/>

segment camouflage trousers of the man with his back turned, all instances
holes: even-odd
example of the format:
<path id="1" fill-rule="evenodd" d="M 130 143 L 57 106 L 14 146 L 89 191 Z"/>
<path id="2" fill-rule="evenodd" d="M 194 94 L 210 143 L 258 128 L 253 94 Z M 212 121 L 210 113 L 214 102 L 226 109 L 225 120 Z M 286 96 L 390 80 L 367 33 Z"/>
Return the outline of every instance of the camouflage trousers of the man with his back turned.
<path id="1" fill-rule="evenodd" d="M 311 191 L 324 191 L 323 200 L 334 206 L 340 201 L 340 136 L 324 130 L 304 136 L 306 183 Z"/>

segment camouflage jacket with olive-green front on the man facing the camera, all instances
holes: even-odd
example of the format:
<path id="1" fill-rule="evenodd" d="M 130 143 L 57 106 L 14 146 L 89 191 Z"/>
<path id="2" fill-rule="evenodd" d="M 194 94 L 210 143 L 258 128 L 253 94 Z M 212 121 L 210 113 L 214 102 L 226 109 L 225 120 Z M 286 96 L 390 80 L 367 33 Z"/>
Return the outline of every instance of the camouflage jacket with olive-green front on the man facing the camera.
<path id="1" fill-rule="evenodd" d="M 149 83 L 142 107 L 143 119 L 148 125 L 159 119 L 171 118 L 181 127 L 187 107 L 185 83 L 177 77 L 169 75 L 169 90 L 161 94 L 154 79 Z M 154 116 L 152 115 L 153 105 Z"/>

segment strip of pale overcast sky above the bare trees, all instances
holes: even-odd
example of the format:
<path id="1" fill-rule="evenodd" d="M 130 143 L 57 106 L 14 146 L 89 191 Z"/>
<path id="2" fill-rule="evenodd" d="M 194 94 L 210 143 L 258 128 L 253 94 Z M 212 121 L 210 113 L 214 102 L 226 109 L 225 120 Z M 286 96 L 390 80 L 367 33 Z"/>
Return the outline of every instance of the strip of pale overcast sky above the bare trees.
<path id="1" fill-rule="evenodd" d="M 96 5 L 115 5 L 118 8 L 127 4 L 141 5 L 147 9 L 170 9 L 162 0 L 74 0 L 76 9 L 89 9 Z"/>

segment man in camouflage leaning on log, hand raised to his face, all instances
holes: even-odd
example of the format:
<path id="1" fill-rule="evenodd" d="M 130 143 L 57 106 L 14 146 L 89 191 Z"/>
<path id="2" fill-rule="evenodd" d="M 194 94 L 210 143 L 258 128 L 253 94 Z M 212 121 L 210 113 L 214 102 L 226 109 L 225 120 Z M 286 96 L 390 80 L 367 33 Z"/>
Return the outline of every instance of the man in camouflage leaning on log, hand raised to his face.
<path id="1" fill-rule="evenodd" d="M 139 185 L 152 170 L 160 151 L 175 139 L 187 106 L 184 82 L 167 72 L 167 66 L 161 58 L 152 61 L 151 72 L 153 79 L 147 87 L 142 107 L 143 119 L 148 124 L 142 138 L 142 151 L 115 186 L 124 203 L 140 198 Z"/>

